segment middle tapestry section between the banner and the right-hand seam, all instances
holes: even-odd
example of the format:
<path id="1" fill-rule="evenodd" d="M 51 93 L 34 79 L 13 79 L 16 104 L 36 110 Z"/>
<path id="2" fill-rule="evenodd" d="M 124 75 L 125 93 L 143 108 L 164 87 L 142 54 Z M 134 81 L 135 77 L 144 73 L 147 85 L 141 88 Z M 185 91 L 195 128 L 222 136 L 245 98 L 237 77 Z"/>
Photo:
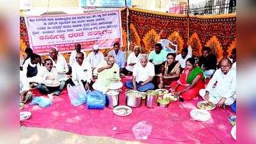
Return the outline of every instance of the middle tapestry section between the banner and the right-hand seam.
<path id="1" fill-rule="evenodd" d="M 187 47 L 187 16 L 151 12 L 131 8 L 129 10 L 131 44 L 140 45 L 148 53 L 155 43 L 167 38 L 180 47 Z M 131 49 L 132 50 L 132 49 Z"/>

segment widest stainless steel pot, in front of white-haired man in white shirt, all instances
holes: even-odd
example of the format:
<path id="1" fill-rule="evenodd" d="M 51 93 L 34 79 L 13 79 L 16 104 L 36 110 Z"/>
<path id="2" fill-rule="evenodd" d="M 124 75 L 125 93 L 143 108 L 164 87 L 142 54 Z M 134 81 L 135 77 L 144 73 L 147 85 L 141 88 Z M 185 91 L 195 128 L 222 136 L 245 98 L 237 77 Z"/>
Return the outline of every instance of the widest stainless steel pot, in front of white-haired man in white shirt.
<path id="1" fill-rule="evenodd" d="M 130 107 L 139 107 L 142 104 L 142 97 L 146 93 L 138 92 L 135 90 L 128 90 L 125 92 L 126 105 Z"/>

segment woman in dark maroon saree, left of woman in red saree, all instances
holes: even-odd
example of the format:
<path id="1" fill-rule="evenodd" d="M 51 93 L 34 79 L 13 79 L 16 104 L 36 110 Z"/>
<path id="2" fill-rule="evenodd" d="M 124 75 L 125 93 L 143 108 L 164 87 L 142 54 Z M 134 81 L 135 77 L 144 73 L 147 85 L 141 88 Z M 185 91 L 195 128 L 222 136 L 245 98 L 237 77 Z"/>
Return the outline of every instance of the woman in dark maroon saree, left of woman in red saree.
<path id="1" fill-rule="evenodd" d="M 180 63 L 175 61 L 175 54 L 169 53 L 160 67 L 161 73 L 156 76 L 158 88 L 169 85 L 180 76 Z"/>

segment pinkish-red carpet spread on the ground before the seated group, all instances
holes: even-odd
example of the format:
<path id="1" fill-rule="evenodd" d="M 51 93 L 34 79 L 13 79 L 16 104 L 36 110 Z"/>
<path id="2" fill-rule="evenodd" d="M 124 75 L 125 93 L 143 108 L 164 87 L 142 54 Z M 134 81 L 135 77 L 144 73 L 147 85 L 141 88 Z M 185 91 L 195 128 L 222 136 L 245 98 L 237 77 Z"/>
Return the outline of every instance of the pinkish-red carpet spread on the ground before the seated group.
<path id="1" fill-rule="evenodd" d="M 125 77 L 127 81 L 131 77 Z M 119 105 L 125 105 L 124 86 Z M 40 95 L 36 90 L 36 95 Z M 210 111 L 214 122 L 206 124 L 196 122 L 189 116 L 190 109 L 196 108 L 198 101 L 180 103 L 172 102 L 168 108 L 146 108 L 144 102 L 139 108 L 132 108 L 129 116 L 117 116 L 112 109 L 87 109 L 83 106 L 72 106 L 67 91 L 54 97 L 53 104 L 47 108 L 37 105 L 26 105 L 22 111 L 31 111 L 29 120 L 22 122 L 25 127 L 42 127 L 69 131 L 89 136 L 110 136 L 121 140 L 138 141 L 132 132 L 133 125 L 146 120 L 153 126 L 148 140 L 142 143 L 235 143 L 230 135 L 231 125 L 228 116 L 232 113 L 220 108 Z M 183 106 L 183 104 L 185 104 Z M 117 129 L 114 131 L 113 128 Z"/>

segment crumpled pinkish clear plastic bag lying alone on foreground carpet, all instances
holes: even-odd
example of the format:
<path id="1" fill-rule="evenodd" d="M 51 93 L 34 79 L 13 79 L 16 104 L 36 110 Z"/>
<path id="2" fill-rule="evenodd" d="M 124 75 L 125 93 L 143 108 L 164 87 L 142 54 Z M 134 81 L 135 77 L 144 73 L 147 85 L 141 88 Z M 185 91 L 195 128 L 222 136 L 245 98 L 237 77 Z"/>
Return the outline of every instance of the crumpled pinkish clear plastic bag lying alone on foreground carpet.
<path id="1" fill-rule="evenodd" d="M 153 127 L 146 121 L 139 122 L 132 127 L 133 134 L 137 140 L 147 140 Z"/>

